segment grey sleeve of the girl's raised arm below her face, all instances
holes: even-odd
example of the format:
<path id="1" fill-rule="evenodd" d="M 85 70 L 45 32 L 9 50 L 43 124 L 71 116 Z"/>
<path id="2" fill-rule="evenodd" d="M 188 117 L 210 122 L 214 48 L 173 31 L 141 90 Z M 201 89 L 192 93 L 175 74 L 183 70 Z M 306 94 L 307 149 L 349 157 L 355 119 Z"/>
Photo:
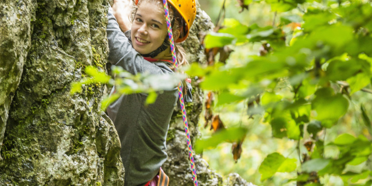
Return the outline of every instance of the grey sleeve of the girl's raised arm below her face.
<path id="1" fill-rule="evenodd" d="M 124 70 L 132 73 L 162 74 L 164 70 L 146 61 L 129 43 L 128 38 L 120 30 L 116 18 L 109 7 L 109 23 L 107 25 L 107 39 L 109 40 L 109 62 L 121 66 Z"/>

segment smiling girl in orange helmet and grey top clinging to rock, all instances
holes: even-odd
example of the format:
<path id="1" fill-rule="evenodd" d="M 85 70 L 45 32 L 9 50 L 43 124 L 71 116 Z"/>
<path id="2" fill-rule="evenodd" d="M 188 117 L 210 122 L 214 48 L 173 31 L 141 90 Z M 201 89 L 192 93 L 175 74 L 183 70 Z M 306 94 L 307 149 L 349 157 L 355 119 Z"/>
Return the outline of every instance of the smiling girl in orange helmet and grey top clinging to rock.
<path id="1" fill-rule="evenodd" d="M 128 10 L 128 7 L 116 3 L 119 2 L 114 1 L 115 12 L 109 8 L 108 13 L 109 62 L 132 74 L 173 73 L 163 1 L 140 0 L 135 6 L 131 29 L 126 34 L 116 19 L 119 23 L 125 22 L 125 16 L 117 15 L 120 15 L 118 11 Z M 121 3 L 125 4 L 129 3 Z M 168 0 L 168 5 L 174 41 L 182 42 L 195 19 L 195 0 Z M 123 31 L 128 29 L 125 25 L 121 28 Z M 176 52 L 178 63 L 186 63 L 183 48 L 177 45 Z M 148 106 L 144 105 L 146 98 L 145 93 L 122 95 L 107 110 L 122 144 L 124 186 L 155 186 L 158 181 L 168 183 L 156 175 L 167 159 L 166 136 L 178 100 L 177 88 L 158 93 L 155 103 Z"/>

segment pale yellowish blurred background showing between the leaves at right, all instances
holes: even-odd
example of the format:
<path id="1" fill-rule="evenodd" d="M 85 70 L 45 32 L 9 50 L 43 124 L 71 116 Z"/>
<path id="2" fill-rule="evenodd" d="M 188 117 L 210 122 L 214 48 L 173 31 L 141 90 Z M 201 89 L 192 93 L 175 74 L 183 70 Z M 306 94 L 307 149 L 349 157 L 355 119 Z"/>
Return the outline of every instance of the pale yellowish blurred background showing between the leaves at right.
<path id="1" fill-rule="evenodd" d="M 246 0 L 247 1 L 247 0 Z M 201 8 L 204 10 L 212 19 L 216 25 L 218 15 L 220 13 L 224 0 L 200 0 Z M 242 13 L 241 8 L 238 5 L 237 0 L 226 0 L 226 18 L 235 18 L 242 24 L 252 25 L 257 24 L 260 27 L 270 26 L 275 24 L 274 17 L 275 13 L 271 12 L 270 5 L 264 2 L 253 2 L 249 5 L 248 10 L 244 10 Z M 261 44 L 248 44 L 243 46 L 234 47 L 234 52 L 227 61 L 227 65 L 240 65 L 247 62 L 249 55 L 258 55 Z M 367 87 L 371 88 L 371 87 Z M 279 93 L 283 97 L 288 97 L 290 93 L 289 87 L 285 85 L 281 88 Z M 366 110 L 370 112 L 372 110 L 371 104 L 372 94 L 357 92 L 352 95 L 353 102 L 350 103 L 348 113 L 345 114 L 339 121 L 339 124 L 327 129 L 324 134 L 325 144 L 333 141 L 339 134 L 347 132 L 354 136 L 364 134 L 369 136 L 366 128 L 361 127 L 363 125 L 360 117 L 360 104 L 363 103 Z M 216 101 L 215 101 L 216 102 Z M 295 186 L 295 182 L 289 182 L 290 179 L 296 177 L 294 173 L 279 173 L 277 172 L 273 178 L 260 181 L 261 174 L 258 171 L 260 164 L 263 159 L 271 153 L 279 152 L 285 157 L 296 158 L 298 160 L 298 152 L 296 150 L 297 142 L 286 138 L 276 139 L 272 137 L 271 126 L 268 123 L 263 122 L 263 115 L 254 115 L 253 118 L 248 118 L 247 115 L 247 101 L 239 104 L 224 105 L 222 107 L 216 107 L 214 114 L 219 114 L 220 119 L 226 127 L 233 126 L 245 126 L 249 129 L 246 139 L 243 142 L 242 154 L 240 159 L 235 163 L 232 154 L 232 144 L 222 143 L 215 149 L 204 150 L 202 157 L 206 159 L 210 167 L 217 171 L 221 175 L 228 175 L 229 173 L 236 172 L 240 174 L 248 182 L 251 182 L 258 186 Z M 200 130 L 202 131 L 202 137 L 210 136 L 212 131 L 209 130 L 209 126 L 204 128 L 204 112 L 201 114 Z M 300 141 L 301 152 L 306 152 L 303 144 L 306 139 Z M 326 152 L 327 157 L 335 157 L 338 155 L 338 149 L 336 147 L 328 146 Z M 297 166 L 300 164 L 297 161 Z M 349 165 L 348 165 L 349 166 Z M 348 170 L 360 170 L 365 166 L 362 163 L 358 166 L 349 166 Z M 340 177 L 325 176 L 321 180 L 326 186 L 343 186 Z"/>

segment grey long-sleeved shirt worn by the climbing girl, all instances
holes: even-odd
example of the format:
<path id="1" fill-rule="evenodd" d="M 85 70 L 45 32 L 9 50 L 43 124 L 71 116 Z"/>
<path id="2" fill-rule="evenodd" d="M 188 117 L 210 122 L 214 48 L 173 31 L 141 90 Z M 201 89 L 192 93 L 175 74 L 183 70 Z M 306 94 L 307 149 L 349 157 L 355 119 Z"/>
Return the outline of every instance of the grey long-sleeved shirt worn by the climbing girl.
<path id="1" fill-rule="evenodd" d="M 120 30 L 111 8 L 108 18 L 110 63 L 132 74 L 173 73 L 166 63 L 143 59 Z M 177 88 L 158 94 L 155 103 L 148 106 L 144 105 L 146 98 L 145 93 L 122 95 L 107 109 L 122 144 L 124 186 L 143 186 L 155 177 L 167 159 L 166 136 L 178 98 Z"/>

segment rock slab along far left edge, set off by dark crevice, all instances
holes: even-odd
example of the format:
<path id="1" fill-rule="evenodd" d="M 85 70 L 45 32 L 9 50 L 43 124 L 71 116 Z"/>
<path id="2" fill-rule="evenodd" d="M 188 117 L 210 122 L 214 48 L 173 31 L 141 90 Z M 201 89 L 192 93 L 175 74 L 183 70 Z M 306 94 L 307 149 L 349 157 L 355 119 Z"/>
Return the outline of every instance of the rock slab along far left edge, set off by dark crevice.
<path id="1" fill-rule="evenodd" d="M 0 2 L 0 147 L 4 138 L 10 104 L 16 93 L 31 46 L 31 0 Z M 0 161 L 1 161 L 0 155 Z"/>

